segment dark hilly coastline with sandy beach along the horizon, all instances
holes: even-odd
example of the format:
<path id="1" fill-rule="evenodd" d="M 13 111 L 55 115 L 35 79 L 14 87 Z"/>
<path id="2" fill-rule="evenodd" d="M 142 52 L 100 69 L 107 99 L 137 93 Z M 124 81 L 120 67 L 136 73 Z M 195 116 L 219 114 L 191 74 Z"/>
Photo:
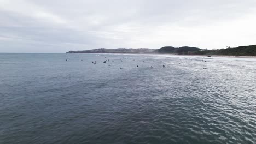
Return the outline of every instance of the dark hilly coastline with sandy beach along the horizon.
<path id="1" fill-rule="evenodd" d="M 93 50 L 84 50 L 84 51 L 69 51 L 67 53 L 132 53 L 132 54 L 172 54 L 172 55 L 224 55 L 224 56 L 256 56 L 256 45 L 250 46 L 239 46 L 235 48 L 228 49 L 213 49 L 213 50 L 203 50 L 197 47 L 172 47 L 165 46 L 160 49 L 93 49 Z"/>

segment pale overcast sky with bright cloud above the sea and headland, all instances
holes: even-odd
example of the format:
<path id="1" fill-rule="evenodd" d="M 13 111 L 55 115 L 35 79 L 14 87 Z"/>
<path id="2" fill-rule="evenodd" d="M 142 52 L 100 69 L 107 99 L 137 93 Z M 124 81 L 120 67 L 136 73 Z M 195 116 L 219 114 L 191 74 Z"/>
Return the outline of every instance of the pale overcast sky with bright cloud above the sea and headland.
<path id="1" fill-rule="evenodd" d="M 253 44 L 255 0 L 0 0 L 0 52 Z"/>

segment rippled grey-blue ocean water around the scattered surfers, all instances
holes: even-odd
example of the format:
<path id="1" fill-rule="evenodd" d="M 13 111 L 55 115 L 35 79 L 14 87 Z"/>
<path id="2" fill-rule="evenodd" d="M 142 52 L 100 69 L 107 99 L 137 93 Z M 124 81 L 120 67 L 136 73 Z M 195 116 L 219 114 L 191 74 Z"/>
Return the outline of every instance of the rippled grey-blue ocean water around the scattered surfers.
<path id="1" fill-rule="evenodd" d="M 0 53 L 0 143 L 256 143 L 256 59 Z"/>

